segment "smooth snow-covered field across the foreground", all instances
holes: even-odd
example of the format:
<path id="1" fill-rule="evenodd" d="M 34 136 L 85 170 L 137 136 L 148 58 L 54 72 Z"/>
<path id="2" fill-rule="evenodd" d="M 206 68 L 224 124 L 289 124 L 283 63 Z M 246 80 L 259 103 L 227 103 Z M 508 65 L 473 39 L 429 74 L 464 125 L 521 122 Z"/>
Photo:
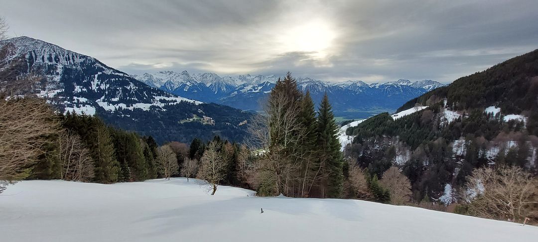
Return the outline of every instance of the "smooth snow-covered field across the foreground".
<path id="1" fill-rule="evenodd" d="M 533 241 L 538 227 L 357 200 L 253 197 L 190 179 L 23 181 L 0 195 L 1 241 Z M 263 208 L 264 213 L 260 213 Z"/>

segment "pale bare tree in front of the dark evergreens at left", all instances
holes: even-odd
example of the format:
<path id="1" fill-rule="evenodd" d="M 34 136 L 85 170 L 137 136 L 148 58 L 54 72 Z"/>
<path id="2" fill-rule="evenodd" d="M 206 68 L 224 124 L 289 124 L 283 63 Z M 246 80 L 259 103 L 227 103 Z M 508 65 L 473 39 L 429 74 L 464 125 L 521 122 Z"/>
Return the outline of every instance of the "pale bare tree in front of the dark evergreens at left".
<path id="1" fill-rule="evenodd" d="M 60 132 L 58 156 L 62 163 L 61 178 L 68 181 L 88 182 L 94 177 L 95 161 L 75 133 Z"/>

